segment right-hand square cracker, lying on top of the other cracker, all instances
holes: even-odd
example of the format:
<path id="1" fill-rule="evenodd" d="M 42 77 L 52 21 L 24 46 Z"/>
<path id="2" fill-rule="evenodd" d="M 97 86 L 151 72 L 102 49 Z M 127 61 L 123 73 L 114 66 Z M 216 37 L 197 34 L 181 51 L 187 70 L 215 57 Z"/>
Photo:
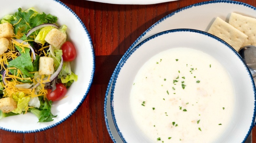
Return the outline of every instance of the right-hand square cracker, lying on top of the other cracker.
<path id="1" fill-rule="evenodd" d="M 229 17 L 229 24 L 245 33 L 248 38 L 245 40 L 244 46 L 254 45 L 256 46 L 256 19 L 241 14 L 232 12 Z"/>

